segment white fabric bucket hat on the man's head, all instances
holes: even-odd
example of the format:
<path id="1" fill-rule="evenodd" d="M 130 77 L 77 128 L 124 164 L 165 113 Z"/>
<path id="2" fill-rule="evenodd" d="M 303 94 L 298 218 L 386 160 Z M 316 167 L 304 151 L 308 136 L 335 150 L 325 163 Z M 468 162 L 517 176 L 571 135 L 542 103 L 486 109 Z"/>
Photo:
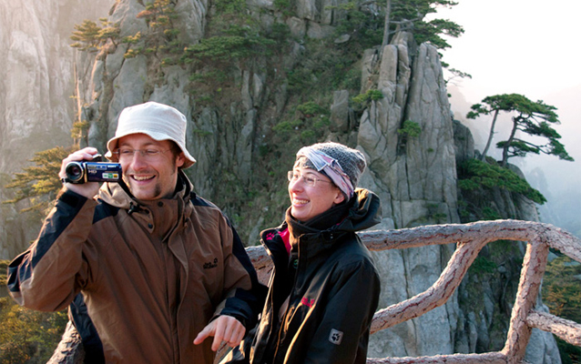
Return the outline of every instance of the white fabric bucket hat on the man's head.
<path id="1" fill-rule="evenodd" d="M 115 159 L 113 151 L 117 149 L 117 140 L 131 134 L 146 134 L 155 140 L 174 141 L 186 157 L 183 168 L 196 163 L 186 149 L 186 116 L 175 107 L 149 101 L 145 104 L 129 106 L 121 111 L 117 121 L 117 130 L 107 142 L 107 157 Z"/>

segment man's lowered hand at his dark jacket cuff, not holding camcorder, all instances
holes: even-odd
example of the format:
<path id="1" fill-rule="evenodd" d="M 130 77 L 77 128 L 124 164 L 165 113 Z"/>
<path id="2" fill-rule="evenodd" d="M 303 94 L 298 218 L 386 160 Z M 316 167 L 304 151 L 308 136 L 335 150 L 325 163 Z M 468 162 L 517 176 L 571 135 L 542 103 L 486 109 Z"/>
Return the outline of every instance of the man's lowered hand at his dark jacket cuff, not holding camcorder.
<path id="1" fill-rule="evenodd" d="M 199 345 L 208 337 L 213 336 L 212 350 L 217 351 L 222 341 L 225 341 L 230 348 L 234 348 L 240 344 L 245 333 L 246 328 L 238 319 L 222 315 L 199 332 L 196 339 L 194 339 L 194 345 Z"/>

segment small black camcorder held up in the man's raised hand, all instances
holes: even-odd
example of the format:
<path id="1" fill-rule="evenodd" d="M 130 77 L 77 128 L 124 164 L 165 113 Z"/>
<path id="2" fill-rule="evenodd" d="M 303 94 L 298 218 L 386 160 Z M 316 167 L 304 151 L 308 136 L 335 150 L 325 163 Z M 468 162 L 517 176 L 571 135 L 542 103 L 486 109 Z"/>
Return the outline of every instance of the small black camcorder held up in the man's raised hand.
<path id="1" fill-rule="evenodd" d="M 121 165 L 119 163 L 101 162 L 103 157 L 97 154 L 90 161 L 69 162 L 65 167 L 64 182 L 83 184 L 87 182 L 119 182 Z"/>

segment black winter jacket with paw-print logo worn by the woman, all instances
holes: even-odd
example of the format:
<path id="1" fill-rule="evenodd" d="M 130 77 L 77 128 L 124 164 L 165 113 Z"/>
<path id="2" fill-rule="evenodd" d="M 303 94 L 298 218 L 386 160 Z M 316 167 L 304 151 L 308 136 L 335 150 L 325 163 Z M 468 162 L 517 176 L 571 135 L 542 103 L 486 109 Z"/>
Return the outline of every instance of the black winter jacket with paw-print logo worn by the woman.
<path id="1" fill-rule="evenodd" d="M 289 209 L 280 227 L 262 231 L 274 263 L 266 305 L 251 349 L 233 350 L 223 362 L 365 363 L 380 280 L 355 232 L 379 218 L 379 197 L 360 188 L 347 204 L 305 224 Z"/>

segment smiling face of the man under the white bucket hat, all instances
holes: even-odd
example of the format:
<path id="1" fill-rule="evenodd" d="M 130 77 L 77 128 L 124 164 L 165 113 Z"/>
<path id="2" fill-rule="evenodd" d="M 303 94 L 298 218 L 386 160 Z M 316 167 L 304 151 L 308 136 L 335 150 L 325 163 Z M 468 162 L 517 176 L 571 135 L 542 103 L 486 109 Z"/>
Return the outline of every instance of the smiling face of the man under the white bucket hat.
<path id="1" fill-rule="evenodd" d="M 142 201 L 173 196 L 178 167 L 185 161 L 183 153 L 174 157 L 171 150 L 174 146 L 169 140 L 157 141 L 145 134 L 132 134 L 118 140 L 123 179 L 133 196 Z M 131 153 L 134 150 L 138 151 Z"/>

